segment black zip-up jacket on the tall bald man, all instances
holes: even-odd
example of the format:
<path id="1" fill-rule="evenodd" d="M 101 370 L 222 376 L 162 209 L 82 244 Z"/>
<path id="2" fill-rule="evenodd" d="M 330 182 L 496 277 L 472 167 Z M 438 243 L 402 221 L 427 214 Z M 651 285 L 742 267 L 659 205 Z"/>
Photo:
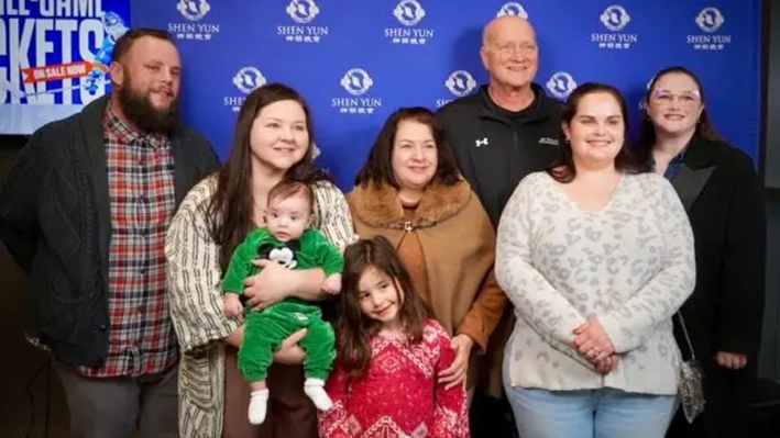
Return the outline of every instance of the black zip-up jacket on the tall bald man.
<path id="1" fill-rule="evenodd" d="M 498 225 L 504 205 L 528 173 L 543 170 L 556 157 L 563 105 L 538 85 L 531 105 L 513 113 L 496 105 L 487 86 L 442 106 L 444 130 L 461 172 Z"/>

